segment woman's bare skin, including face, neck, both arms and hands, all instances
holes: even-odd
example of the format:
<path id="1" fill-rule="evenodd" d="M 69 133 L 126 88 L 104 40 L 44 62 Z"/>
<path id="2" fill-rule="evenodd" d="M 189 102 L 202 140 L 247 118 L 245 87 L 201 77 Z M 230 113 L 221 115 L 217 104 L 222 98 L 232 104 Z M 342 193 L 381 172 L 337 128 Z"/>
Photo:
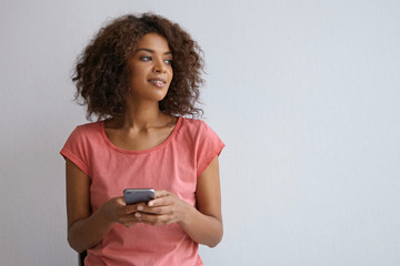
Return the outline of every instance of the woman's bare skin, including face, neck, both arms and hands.
<path id="1" fill-rule="evenodd" d="M 124 150 L 142 151 L 163 143 L 174 129 L 177 119 L 163 114 L 158 102 L 168 92 L 173 76 L 167 40 L 156 33 L 146 34 L 130 66 L 130 94 L 123 115 L 106 121 L 109 140 Z M 68 242 L 77 252 L 96 246 L 116 223 L 127 227 L 138 223 L 152 226 L 178 223 L 197 243 L 214 247 L 223 234 L 218 156 L 198 177 L 197 207 L 168 191 L 156 191 L 148 204 L 127 205 L 123 197 L 110 198 L 90 213 L 90 177 L 67 158 Z"/>

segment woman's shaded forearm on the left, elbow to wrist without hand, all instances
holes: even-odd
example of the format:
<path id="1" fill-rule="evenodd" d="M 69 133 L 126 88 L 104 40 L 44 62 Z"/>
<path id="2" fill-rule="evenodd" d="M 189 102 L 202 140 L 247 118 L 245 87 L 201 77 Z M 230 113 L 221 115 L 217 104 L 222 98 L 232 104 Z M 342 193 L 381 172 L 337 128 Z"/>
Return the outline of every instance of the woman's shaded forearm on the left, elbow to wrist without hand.
<path id="1" fill-rule="evenodd" d="M 91 216 L 73 223 L 68 231 L 69 245 L 81 253 L 97 245 L 112 228 L 113 222 L 107 216 L 103 206 Z"/>

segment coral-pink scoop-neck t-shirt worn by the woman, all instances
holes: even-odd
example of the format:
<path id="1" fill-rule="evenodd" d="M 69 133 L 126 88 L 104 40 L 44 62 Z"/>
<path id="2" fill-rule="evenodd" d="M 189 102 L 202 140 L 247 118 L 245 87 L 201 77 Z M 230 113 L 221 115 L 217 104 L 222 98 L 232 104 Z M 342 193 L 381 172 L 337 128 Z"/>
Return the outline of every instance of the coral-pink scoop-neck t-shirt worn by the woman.
<path id="1" fill-rule="evenodd" d="M 144 151 L 114 146 L 102 121 L 77 126 L 61 154 L 90 178 L 92 212 L 124 188 L 166 190 L 196 206 L 197 177 L 224 144 L 203 121 L 179 117 L 162 144 Z M 86 265 L 203 265 L 198 244 L 177 224 L 116 224 L 88 250 Z"/>

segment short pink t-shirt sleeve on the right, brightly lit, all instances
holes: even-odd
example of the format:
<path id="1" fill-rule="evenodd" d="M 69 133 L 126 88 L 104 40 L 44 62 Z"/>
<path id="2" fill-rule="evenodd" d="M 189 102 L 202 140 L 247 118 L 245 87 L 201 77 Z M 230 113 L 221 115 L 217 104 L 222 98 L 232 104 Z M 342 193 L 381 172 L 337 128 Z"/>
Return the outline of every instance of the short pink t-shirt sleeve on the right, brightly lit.
<path id="1" fill-rule="evenodd" d="M 222 152 L 224 143 L 217 135 L 217 133 L 204 122 L 201 123 L 199 130 L 199 144 L 197 150 L 197 176 L 210 165 L 212 160 Z"/>

